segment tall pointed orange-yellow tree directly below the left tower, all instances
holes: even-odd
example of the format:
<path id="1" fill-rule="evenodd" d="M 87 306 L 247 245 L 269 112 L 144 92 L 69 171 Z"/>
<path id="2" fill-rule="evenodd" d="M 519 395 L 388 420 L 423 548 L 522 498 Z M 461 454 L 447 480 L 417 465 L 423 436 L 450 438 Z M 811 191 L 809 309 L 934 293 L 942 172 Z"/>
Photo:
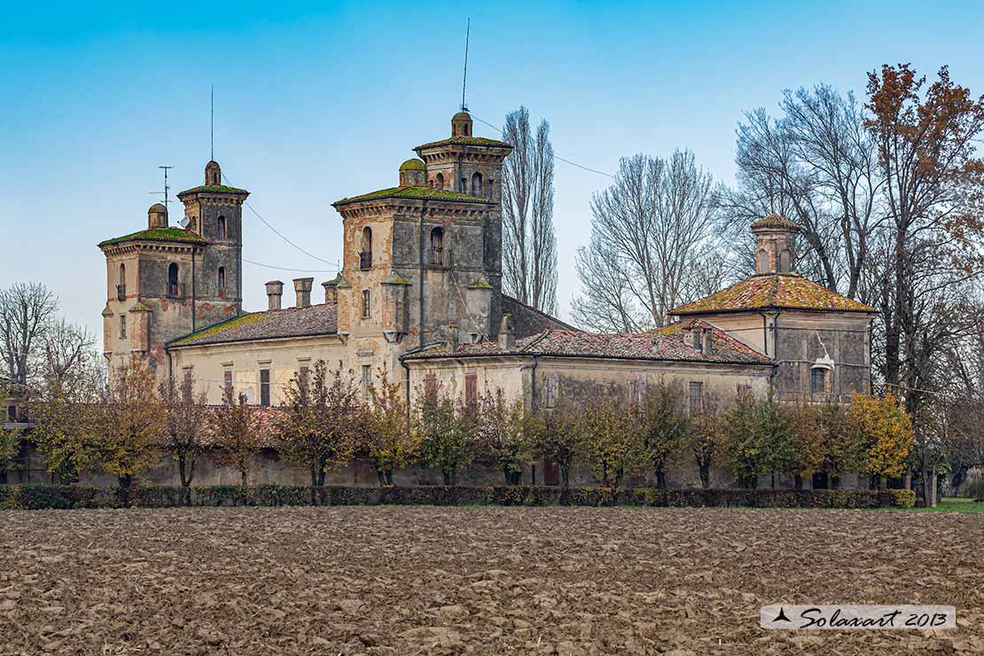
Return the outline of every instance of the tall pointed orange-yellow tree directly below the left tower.
<path id="1" fill-rule="evenodd" d="M 167 424 L 154 372 L 140 358 L 111 372 L 98 404 L 99 465 L 126 494 L 160 459 Z"/>

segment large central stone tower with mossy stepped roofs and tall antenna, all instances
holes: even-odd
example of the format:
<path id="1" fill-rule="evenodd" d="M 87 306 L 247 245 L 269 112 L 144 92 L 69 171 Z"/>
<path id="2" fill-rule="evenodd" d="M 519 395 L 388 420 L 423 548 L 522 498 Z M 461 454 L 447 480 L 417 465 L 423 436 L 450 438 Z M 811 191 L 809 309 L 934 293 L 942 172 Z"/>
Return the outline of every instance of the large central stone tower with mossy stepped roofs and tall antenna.
<path id="1" fill-rule="evenodd" d="M 512 147 L 473 137 L 463 112 L 452 125 L 451 138 L 400 165 L 399 186 L 334 204 L 344 225 L 338 334 L 390 371 L 408 348 L 499 328 L 500 174 Z"/>

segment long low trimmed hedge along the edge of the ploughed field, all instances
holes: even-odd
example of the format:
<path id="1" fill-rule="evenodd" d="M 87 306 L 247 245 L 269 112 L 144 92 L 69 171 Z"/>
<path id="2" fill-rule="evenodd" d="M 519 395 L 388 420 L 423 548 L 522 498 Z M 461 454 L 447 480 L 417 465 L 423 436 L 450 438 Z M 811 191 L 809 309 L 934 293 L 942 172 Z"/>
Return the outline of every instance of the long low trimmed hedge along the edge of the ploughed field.
<path id="1" fill-rule="evenodd" d="M 96 488 L 0 485 L 0 509 L 176 506 L 651 506 L 651 507 L 912 507 L 911 490 L 739 490 L 654 488 L 325 487 L 216 485 Z"/>

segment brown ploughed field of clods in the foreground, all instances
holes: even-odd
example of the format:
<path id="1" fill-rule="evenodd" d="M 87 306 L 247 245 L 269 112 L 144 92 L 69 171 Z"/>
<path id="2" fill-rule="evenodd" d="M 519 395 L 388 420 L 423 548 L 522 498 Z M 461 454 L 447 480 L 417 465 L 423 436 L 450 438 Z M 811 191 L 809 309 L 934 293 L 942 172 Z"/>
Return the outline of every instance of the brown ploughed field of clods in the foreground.
<path id="1" fill-rule="evenodd" d="M 982 515 L 904 511 L 4 511 L 0 654 L 979 654 L 982 546 Z M 959 626 L 760 628 L 779 602 Z"/>

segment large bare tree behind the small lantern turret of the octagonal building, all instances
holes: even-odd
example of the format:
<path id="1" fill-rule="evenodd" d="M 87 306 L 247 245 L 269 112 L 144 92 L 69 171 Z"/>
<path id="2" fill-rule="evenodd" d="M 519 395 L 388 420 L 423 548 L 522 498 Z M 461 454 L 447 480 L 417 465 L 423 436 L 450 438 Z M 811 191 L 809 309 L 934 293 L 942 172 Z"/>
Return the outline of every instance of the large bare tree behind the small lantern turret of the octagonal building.
<path id="1" fill-rule="evenodd" d="M 765 109 L 738 127 L 739 187 L 723 203 L 729 243 L 740 268 L 753 269 L 748 223 L 770 212 L 803 227 L 800 272 L 851 298 L 869 256 L 871 234 L 885 220 L 884 176 L 853 93 L 819 85 L 786 90 L 781 116 Z"/>

